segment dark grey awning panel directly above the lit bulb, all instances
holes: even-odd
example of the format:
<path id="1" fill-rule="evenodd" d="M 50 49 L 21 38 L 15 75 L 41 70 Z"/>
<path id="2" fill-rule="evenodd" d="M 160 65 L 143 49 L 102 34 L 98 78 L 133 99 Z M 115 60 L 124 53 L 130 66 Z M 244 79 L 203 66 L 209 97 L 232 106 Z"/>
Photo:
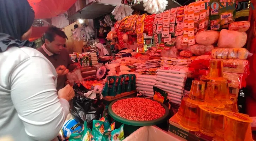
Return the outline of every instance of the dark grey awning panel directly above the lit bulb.
<path id="1" fill-rule="evenodd" d="M 112 12 L 116 5 L 110 5 L 110 4 L 102 4 L 99 2 L 90 2 L 88 5 L 86 5 L 83 9 L 80 10 L 80 12 L 76 12 L 72 16 L 69 17 L 69 19 L 96 19 L 100 16 L 103 16 L 109 12 Z"/>

